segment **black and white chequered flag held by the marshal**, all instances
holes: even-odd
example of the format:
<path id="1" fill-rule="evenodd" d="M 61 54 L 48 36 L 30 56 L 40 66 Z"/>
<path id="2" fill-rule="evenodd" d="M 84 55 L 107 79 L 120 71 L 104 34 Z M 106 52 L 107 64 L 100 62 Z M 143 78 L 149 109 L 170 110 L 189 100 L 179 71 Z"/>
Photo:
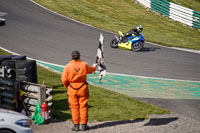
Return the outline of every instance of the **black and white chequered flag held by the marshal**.
<path id="1" fill-rule="evenodd" d="M 99 81 L 101 81 L 101 79 L 106 75 L 106 66 L 105 66 L 104 56 L 103 56 L 103 52 L 104 52 L 103 43 L 104 43 L 104 37 L 101 33 L 99 37 L 99 46 L 97 49 L 97 58 L 96 58 L 96 63 L 98 64 L 97 68 L 100 72 Z"/>

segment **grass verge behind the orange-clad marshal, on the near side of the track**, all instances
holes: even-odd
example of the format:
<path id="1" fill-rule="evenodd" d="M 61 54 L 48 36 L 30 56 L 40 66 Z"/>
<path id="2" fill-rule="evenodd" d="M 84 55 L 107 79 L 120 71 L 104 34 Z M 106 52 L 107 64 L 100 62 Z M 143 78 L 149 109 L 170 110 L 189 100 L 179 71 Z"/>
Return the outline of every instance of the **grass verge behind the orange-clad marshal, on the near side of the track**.
<path id="1" fill-rule="evenodd" d="M 8 54 L 0 50 L 0 55 Z M 67 92 L 63 87 L 60 74 L 43 67 L 37 67 L 38 82 L 53 88 L 52 117 L 58 120 L 71 120 L 67 104 Z M 146 104 L 126 95 L 89 85 L 89 121 L 113 121 L 145 119 L 151 114 L 167 114 L 167 110 Z"/>

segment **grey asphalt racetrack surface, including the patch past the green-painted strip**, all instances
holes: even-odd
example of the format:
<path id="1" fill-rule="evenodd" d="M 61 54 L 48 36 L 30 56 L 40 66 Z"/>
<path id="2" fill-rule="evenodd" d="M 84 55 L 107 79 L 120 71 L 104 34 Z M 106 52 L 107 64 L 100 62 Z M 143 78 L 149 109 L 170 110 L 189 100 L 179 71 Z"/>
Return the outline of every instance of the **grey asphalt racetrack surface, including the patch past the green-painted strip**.
<path id="1" fill-rule="evenodd" d="M 105 38 L 107 71 L 157 78 L 200 81 L 200 54 L 145 43 L 141 52 L 112 49 L 113 34 L 64 18 L 29 0 L 0 0 L 0 47 L 28 57 L 65 65 L 71 51 L 94 63 L 99 34 Z M 144 28 L 145 30 L 145 28 Z M 200 120 L 200 100 L 139 98 Z"/>

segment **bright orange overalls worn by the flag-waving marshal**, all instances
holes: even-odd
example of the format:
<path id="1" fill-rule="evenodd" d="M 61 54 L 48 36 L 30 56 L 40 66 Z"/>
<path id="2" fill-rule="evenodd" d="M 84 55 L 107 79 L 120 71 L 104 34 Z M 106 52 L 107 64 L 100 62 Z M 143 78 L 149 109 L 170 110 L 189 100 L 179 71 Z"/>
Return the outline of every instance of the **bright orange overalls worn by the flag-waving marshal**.
<path id="1" fill-rule="evenodd" d="M 81 124 L 87 124 L 89 90 L 86 80 L 87 74 L 95 70 L 96 67 L 90 67 L 86 62 L 72 60 L 65 66 L 61 75 L 62 83 L 67 88 L 68 103 L 74 124 L 79 124 L 79 113 Z"/>

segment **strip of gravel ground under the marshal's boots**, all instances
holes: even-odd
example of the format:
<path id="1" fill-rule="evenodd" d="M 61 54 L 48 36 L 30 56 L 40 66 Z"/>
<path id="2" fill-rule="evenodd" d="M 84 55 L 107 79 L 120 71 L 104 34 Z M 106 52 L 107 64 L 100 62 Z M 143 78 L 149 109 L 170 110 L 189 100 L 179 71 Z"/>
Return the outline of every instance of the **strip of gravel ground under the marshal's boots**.
<path id="1" fill-rule="evenodd" d="M 34 125 L 34 133 L 73 133 L 71 121 L 52 121 Z M 151 115 L 149 119 L 88 122 L 90 130 L 84 133 L 200 133 L 200 121 L 180 114 Z"/>

